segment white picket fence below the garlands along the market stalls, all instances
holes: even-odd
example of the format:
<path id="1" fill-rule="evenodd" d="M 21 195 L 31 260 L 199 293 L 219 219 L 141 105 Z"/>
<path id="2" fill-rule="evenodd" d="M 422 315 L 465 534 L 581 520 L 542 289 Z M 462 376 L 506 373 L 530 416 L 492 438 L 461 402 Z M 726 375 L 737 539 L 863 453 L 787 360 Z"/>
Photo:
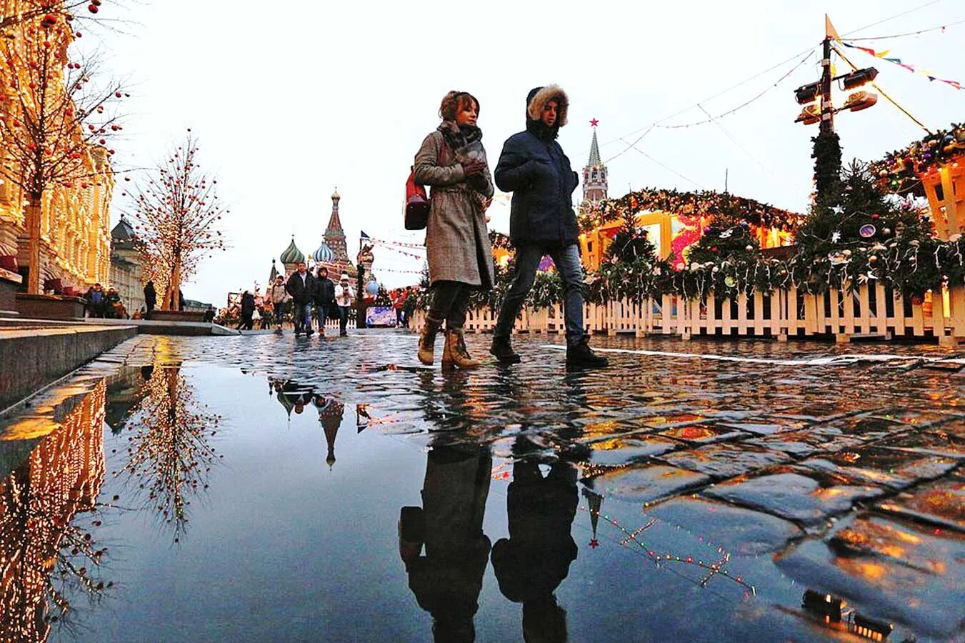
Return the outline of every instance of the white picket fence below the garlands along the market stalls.
<path id="1" fill-rule="evenodd" d="M 497 314 L 488 308 L 469 311 L 468 332 L 491 332 Z M 956 286 L 941 294 L 928 294 L 915 303 L 884 286 L 859 286 L 850 294 L 843 290 L 825 294 L 803 294 L 796 288 L 770 294 L 684 299 L 665 294 L 659 299 L 612 301 L 586 304 L 584 325 L 591 333 L 622 333 L 646 336 L 678 335 L 713 337 L 834 336 L 838 341 L 852 337 L 937 337 L 941 344 L 965 339 L 965 287 Z M 422 327 L 425 313 L 417 311 L 414 331 Z M 563 333 L 563 307 L 556 304 L 539 310 L 524 309 L 516 320 L 515 332 Z"/>

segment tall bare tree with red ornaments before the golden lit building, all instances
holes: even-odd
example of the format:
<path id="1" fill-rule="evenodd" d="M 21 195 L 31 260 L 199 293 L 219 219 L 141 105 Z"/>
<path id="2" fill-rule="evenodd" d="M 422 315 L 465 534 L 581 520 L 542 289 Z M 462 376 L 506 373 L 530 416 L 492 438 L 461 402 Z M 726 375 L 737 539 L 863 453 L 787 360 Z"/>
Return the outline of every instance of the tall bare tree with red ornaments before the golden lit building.
<path id="1" fill-rule="evenodd" d="M 57 187 L 108 181 L 114 154 L 108 140 L 122 128 L 120 83 L 94 82 L 96 59 L 70 58 L 75 37 L 64 14 L 48 13 L 21 20 L 0 39 L 0 174 L 25 202 L 29 293 L 40 293 L 44 198 Z"/>

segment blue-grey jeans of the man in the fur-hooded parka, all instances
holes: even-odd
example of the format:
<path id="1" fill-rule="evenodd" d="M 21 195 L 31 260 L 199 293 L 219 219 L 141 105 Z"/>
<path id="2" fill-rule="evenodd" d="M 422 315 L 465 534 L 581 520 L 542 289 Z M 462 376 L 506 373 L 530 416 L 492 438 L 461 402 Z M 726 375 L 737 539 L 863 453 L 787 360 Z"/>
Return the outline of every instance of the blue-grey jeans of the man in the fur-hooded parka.
<path id="1" fill-rule="evenodd" d="M 566 343 L 579 344 L 587 339 L 583 329 L 583 264 L 580 263 L 580 247 L 573 243 L 565 247 L 543 248 L 538 245 L 524 245 L 516 248 L 516 274 L 512 279 L 510 292 L 506 294 L 503 309 L 493 335 L 508 339 L 516 322 L 526 295 L 533 288 L 537 277 L 539 260 L 549 255 L 563 279 L 563 313 L 566 319 Z"/>

